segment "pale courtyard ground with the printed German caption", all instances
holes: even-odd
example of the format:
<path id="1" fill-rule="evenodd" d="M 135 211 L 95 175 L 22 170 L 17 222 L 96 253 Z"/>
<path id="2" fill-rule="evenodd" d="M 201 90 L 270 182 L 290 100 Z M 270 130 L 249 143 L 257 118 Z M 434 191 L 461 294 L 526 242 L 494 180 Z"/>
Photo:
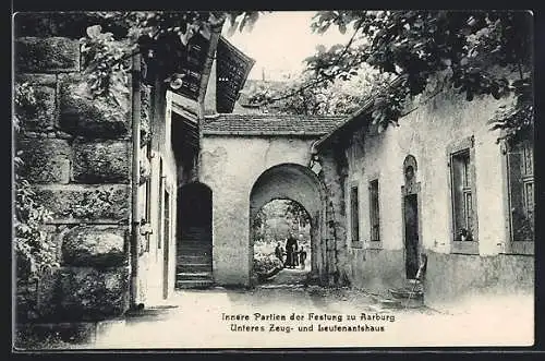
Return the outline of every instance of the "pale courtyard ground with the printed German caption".
<path id="1" fill-rule="evenodd" d="M 387 302 L 364 290 L 305 286 L 305 276 L 304 270 L 284 269 L 254 289 L 178 291 L 170 306 L 99 324 L 94 342 L 78 347 L 284 350 L 533 344 L 531 297 L 474 299 L 439 312 Z"/>

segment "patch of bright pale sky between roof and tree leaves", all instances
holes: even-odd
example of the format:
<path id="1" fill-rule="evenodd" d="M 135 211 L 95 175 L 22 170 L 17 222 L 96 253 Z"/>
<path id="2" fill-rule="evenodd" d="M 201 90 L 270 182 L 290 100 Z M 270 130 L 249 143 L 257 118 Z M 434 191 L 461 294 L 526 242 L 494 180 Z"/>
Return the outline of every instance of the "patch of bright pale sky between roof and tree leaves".
<path id="1" fill-rule="evenodd" d="M 298 74 L 303 70 L 303 60 L 315 52 L 316 46 L 327 48 L 335 44 L 347 44 L 352 34 L 342 35 L 331 27 L 324 35 L 313 34 L 312 17 L 315 11 L 275 11 L 259 14 L 251 32 L 237 31 L 227 36 L 228 24 L 223 36 L 255 60 L 249 79 L 286 80 L 288 74 Z"/>

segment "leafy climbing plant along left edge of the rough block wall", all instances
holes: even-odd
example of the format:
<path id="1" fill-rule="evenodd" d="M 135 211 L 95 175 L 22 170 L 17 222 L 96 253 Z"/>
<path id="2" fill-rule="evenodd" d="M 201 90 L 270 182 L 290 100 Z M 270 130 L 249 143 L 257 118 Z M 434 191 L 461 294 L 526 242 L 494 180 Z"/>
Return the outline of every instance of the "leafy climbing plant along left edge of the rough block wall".
<path id="1" fill-rule="evenodd" d="M 32 111 L 36 106 L 34 89 L 27 83 L 15 84 L 15 117 L 13 124 L 20 135 L 17 113 Z M 28 281 L 58 266 L 57 250 L 44 225 L 51 220 L 51 212 L 36 201 L 32 184 L 21 176 L 24 167 L 17 151 L 13 159 L 15 170 L 14 250 L 16 255 L 17 280 Z"/>

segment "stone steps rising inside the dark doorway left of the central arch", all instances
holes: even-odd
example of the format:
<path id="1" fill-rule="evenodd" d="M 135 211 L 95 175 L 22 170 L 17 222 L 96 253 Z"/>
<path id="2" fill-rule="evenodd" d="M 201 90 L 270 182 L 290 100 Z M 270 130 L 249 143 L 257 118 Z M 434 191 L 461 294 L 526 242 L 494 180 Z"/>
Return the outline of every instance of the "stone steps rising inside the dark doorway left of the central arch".
<path id="1" fill-rule="evenodd" d="M 177 288 L 206 288 L 214 284 L 210 233 L 204 228 L 189 227 L 178 244 Z"/>

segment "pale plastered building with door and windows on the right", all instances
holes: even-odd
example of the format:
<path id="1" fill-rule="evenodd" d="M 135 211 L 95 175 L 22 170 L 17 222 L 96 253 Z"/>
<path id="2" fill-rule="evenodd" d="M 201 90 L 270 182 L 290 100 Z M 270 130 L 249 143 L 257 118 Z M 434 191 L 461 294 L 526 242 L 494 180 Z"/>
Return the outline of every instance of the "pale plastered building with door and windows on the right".
<path id="1" fill-rule="evenodd" d="M 428 305 L 533 292 L 533 139 L 498 144 L 487 123 L 508 101 L 443 91 L 384 132 L 370 101 L 314 144 L 325 168 L 342 165 L 353 286 L 403 287 L 424 253 Z"/>

